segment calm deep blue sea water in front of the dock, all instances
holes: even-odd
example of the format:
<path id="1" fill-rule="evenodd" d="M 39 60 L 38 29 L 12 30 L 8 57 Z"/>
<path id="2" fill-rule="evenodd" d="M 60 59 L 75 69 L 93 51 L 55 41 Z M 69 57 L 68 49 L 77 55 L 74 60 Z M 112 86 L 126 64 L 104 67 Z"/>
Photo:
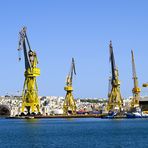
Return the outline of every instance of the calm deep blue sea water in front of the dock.
<path id="1" fill-rule="evenodd" d="M 0 119 L 0 148 L 147 148 L 148 119 Z"/>

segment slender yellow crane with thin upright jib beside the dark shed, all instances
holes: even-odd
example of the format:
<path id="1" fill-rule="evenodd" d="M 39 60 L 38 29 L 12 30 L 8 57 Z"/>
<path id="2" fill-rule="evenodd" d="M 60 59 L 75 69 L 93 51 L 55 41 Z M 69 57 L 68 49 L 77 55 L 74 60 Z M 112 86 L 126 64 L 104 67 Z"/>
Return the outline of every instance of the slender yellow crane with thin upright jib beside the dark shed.
<path id="1" fill-rule="evenodd" d="M 136 66 L 135 66 L 135 60 L 134 60 L 134 53 L 133 50 L 131 50 L 132 55 L 132 72 L 133 72 L 133 80 L 134 80 L 134 88 L 132 89 L 133 92 L 133 98 L 131 101 L 131 109 L 139 107 L 139 99 L 140 99 L 140 88 L 138 87 L 138 78 L 136 75 Z"/>

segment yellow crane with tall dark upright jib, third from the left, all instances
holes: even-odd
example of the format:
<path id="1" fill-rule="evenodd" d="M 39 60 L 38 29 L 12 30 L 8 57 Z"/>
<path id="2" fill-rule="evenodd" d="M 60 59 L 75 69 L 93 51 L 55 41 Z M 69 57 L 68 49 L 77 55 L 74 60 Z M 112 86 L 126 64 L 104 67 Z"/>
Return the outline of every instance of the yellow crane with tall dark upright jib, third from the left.
<path id="1" fill-rule="evenodd" d="M 111 41 L 109 45 L 109 51 L 110 51 L 112 76 L 110 78 L 111 89 L 109 89 L 110 92 L 108 93 L 107 110 L 120 112 L 123 107 L 123 100 L 120 93 L 120 81 L 118 79 L 119 74 L 118 74 L 118 69 L 115 65 L 115 59 L 114 59 L 114 53 Z"/>

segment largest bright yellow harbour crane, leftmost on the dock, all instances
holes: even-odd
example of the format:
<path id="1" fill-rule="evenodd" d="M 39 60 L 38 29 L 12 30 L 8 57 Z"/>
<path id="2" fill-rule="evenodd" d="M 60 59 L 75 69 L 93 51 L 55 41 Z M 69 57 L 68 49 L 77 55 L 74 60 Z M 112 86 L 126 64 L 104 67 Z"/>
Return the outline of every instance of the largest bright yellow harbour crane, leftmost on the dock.
<path id="1" fill-rule="evenodd" d="M 40 75 L 40 69 L 37 68 L 38 60 L 35 51 L 32 51 L 29 40 L 26 34 L 26 27 L 23 27 L 19 32 L 20 40 L 18 51 L 23 50 L 25 60 L 25 81 L 22 91 L 22 115 L 24 115 L 25 109 L 27 115 L 40 114 L 39 99 L 38 99 L 38 87 L 36 77 Z M 29 49 L 27 49 L 27 47 Z M 21 60 L 21 57 L 19 57 Z"/>

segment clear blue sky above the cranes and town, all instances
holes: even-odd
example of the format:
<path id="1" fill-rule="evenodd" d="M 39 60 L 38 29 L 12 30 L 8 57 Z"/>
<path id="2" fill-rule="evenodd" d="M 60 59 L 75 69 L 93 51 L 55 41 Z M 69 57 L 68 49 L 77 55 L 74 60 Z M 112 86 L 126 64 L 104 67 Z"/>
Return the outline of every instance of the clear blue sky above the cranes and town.
<path id="1" fill-rule="evenodd" d="M 131 49 L 139 86 L 148 81 L 147 6 L 147 0 L 1 0 L 0 95 L 17 94 L 23 87 L 24 61 L 18 62 L 17 52 L 22 26 L 27 26 L 31 48 L 38 54 L 39 95 L 65 95 L 74 57 L 74 96 L 107 97 L 110 40 L 122 96 L 132 95 Z"/>

